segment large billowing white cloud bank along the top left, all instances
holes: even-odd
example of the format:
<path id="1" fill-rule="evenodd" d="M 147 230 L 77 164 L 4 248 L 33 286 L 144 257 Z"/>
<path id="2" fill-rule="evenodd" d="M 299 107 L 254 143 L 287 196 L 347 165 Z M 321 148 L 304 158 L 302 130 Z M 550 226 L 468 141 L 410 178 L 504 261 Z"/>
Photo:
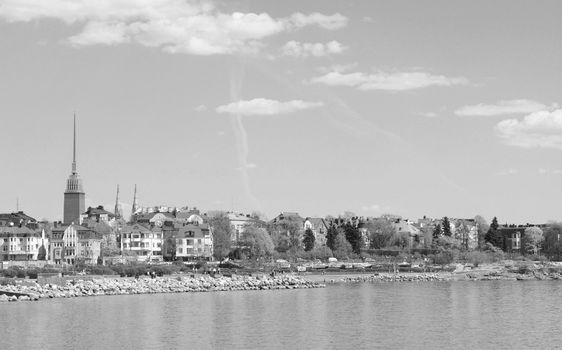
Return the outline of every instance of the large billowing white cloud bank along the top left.
<path id="1" fill-rule="evenodd" d="M 347 17 L 336 13 L 224 13 L 210 1 L 183 0 L 3 0 L 0 18 L 8 22 L 59 20 L 79 32 L 75 47 L 135 43 L 168 53 L 195 55 L 256 52 L 263 39 L 308 26 L 336 30 Z"/>

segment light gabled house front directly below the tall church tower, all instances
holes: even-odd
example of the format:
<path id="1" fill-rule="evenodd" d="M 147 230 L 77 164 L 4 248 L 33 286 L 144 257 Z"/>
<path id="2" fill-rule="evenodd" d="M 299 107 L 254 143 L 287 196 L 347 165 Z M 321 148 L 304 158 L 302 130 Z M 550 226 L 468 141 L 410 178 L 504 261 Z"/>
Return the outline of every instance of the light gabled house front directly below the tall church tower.
<path id="1" fill-rule="evenodd" d="M 64 225 L 52 229 L 50 260 L 57 265 L 97 264 L 101 255 L 101 237 L 92 229 L 80 225 Z"/>

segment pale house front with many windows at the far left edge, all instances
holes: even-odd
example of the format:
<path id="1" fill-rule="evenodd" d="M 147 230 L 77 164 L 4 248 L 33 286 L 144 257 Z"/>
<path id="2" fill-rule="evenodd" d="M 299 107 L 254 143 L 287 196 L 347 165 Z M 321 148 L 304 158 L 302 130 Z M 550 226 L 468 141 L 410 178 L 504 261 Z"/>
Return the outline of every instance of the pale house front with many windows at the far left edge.
<path id="1" fill-rule="evenodd" d="M 37 260 L 39 252 L 43 250 L 46 254 L 48 246 L 44 230 L 25 226 L 0 227 L 0 261 Z"/>

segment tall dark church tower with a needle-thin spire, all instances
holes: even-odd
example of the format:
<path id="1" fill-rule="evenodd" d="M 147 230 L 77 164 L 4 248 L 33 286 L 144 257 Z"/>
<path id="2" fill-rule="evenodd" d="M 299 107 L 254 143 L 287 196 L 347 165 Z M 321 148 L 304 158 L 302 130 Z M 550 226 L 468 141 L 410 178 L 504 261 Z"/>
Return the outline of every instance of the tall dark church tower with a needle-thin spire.
<path id="1" fill-rule="evenodd" d="M 66 180 L 66 191 L 64 191 L 64 215 L 63 222 L 65 224 L 80 222 L 80 214 L 85 208 L 84 188 L 82 187 L 82 179 L 76 171 L 76 114 L 74 115 L 74 139 L 72 150 L 72 173 Z"/>

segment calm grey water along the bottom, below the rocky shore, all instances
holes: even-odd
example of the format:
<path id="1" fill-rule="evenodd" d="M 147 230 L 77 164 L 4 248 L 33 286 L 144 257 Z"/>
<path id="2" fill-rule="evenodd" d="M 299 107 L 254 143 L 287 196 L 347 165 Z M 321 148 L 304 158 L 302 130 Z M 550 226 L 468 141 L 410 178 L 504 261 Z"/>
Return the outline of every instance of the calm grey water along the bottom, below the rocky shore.
<path id="1" fill-rule="evenodd" d="M 555 349 L 562 282 L 339 284 L 0 304 L 0 349 Z"/>

